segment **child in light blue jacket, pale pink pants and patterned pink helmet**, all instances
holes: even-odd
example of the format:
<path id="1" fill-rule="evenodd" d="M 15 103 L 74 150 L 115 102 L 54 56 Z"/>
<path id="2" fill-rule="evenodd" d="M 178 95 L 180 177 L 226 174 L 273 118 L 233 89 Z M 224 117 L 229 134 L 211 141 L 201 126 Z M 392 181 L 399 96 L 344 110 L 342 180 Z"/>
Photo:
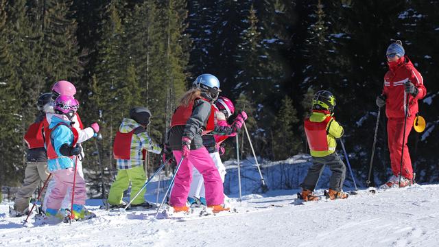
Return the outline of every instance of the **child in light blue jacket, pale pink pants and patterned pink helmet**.
<path id="1" fill-rule="evenodd" d="M 45 136 L 49 172 L 54 176 L 55 186 L 49 193 L 46 215 L 49 220 L 63 220 L 60 207 L 67 189 L 74 186 L 73 217 L 82 220 L 93 217 L 85 207 L 85 181 L 75 167 L 82 148 L 78 143 L 78 130 L 71 127 L 78 109 L 78 100 L 72 96 L 59 96 L 55 101 L 55 114 L 51 117 L 49 130 Z M 76 174 L 75 183 L 73 177 Z"/>

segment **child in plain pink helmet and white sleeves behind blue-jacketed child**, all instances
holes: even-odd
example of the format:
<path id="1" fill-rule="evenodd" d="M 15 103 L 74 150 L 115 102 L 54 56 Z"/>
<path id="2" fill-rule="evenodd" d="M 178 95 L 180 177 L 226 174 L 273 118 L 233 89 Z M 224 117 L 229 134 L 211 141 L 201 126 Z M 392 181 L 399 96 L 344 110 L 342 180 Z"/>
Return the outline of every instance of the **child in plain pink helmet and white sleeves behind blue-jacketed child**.
<path id="1" fill-rule="evenodd" d="M 71 82 L 68 82 L 66 80 L 60 80 L 60 81 L 56 82 L 54 84 L 54 86 L 52 86 L 52 89 L 51 89 L 51 95 L 52 95 L 52 99 L 54 101 L 60 95 L 74 97 L 75 94 L 76 94 L 75 86 L 73 86 L 73 84 L 71 84 Z M 53 104 L 46 104 L 44 106 L 44 110 L 46 113 L 46 120 L 47 120 L 47 124 L 45 124 L 45 134 L 46 134 L 46 132 L 49 130 L 49 124 L 51 124 L 52 116 L 55 114 L 54 105 Z M 90 127 L 84 128 L 78 112 L 75 112 L 75 115 L 73 115 L 73 117 L 71 119 L 71 124 L 72 124 L 72 127 L 78 131 L 78 143 L 77 143 L 78 145 L 81 145 L 81 143 L 92 138 L 93 136 L 95 136 L 95 134 L 97 132 L 99 132 L 99 125 L 97 123 L 93 123 L 93 124 L 91 124 Z M 82 160 L 78 159 L 76 166 L 77 166 L 78 174 L 81 176 L 81 178 L 84 178 L 84 173 L 82 172 L 82 161 L 84 159 L 84 152 L 81 153 L 81 156 L 82 156 Z M 55 185 L 54 180 L 50 180 L 49 184 L 47 185 L 47 192 L 48 193 L 46 193 L 46 196 L 44 198 L 43 211 L 46 210 L 45 204 L 46 204 L 47 200 L 49 199 L 49 197 L 48 197 L 49 192 L 54 188 L 54 185 Z M 71 203 L 70 196 L 71 196 L 71 187 L 69 187 L 67 189 L 66 197 L 64 198 L 64 200 L 62 200 L 61 209 L 69 209 L 70 208 L 70 203 Z"/>

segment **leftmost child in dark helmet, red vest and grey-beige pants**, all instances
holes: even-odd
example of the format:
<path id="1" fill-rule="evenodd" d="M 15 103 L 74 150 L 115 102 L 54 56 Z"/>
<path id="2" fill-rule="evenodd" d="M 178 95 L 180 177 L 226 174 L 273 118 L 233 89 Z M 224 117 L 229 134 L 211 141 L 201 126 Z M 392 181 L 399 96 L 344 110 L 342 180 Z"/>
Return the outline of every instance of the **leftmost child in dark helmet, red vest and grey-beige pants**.
<path id="1" fill-rule="evenodd" d="M 43 106 L 49 102 L 51 102 L 51 93 L 43 93 L 38 97 L 36 107 L 40 113 L 36 117 L 34 124 L 27 128 L 24 139 L 29 150 L 27 150 L 26 155 L 25 180 L 19 191 L 16 192 L 14 208 L 9 209 L 10 217 L 21 217 L 29 213 L 30 196 L 32 196 L 40 182 L 45 182 L 49 176 L 43 138 L 43 123 L 46 122 L 47 124 Z M 44 195 L 44 192 L 42 195 Z"/>

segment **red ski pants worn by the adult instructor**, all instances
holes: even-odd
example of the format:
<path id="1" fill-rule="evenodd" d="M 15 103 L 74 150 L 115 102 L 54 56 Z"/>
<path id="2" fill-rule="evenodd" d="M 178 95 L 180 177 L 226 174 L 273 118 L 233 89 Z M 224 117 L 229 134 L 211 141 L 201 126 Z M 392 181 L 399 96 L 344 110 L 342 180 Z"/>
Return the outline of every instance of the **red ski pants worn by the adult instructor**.
<path id="1" fill-rule="evenodd" d="M 401 175 L 408 179 L 413 178 L 412 161 L 410 160 L 409 148 L 407 147 L 407 139 L 412 130 L 414 117 L 407 117 L 407 124 L 405 125 L 403 171 Z M 387 133 L 392 172 L 394 176 L 399 176 L 401 152 L 403 150 L 404 117 L 390 117 L 387 123 Z"/>

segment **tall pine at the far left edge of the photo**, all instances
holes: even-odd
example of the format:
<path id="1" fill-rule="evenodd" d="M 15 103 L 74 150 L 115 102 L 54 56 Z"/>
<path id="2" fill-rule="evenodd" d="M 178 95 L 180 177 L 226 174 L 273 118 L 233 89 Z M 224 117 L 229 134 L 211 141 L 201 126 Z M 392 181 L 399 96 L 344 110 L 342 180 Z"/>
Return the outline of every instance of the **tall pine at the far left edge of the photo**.
<path id="1" fill-rule="evenodd" d="M 4 80 L 1 93 L 4 106 L 1 107 L 1 128 L 5 128 L 2 130 L 5 141 L 1 153 L 10 161 L 5 171 L 9 174 L 8 180 L 13 181 L 24 171 L 26 146 L 22 137 L 29 123 L 34 121 L 35 102 L 42 89 L 38 71 L 40 47 L 39 33 L 34 31 L 35 25 L 27 16 L 26 1 L 2 3 L 2 8 L 0 78 Z"/>

